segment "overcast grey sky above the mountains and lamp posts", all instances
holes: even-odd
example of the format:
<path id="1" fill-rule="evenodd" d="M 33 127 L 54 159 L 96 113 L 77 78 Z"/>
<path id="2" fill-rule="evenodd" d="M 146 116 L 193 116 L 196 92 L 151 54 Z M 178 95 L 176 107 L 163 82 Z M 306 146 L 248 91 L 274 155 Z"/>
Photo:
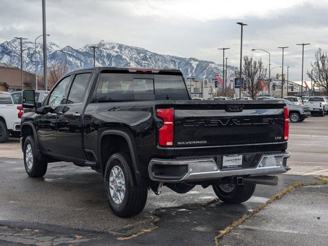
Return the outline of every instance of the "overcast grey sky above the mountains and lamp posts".
<path id="1" fill-rule="evenodd" d="M 47 0 L 49 42 L 80 48 L 85 44 L 108 42 L 142 47 L 183 57 L 196 57 L 222 63 L 222 51 L 229 47 L 228 64 L 239 67 L 240 26 L 244 22 L 243 54 L 262 57 L 271 52 L 272 68 L 290 66 L 289 79 L 301 80 L 301 46 L 304 74 L 319 47 L 328 49 L 328 1 L 325 0 Z M 42 34 L 41 0 L 1 0 L 0 42 L 23 36 L 34 42 Z M 281 73 L 280 68 L 272 74 Z M 286 74 L 286 67 L 284 69 Z M 304 75 L 304 80 L 309 78 Z"/>

